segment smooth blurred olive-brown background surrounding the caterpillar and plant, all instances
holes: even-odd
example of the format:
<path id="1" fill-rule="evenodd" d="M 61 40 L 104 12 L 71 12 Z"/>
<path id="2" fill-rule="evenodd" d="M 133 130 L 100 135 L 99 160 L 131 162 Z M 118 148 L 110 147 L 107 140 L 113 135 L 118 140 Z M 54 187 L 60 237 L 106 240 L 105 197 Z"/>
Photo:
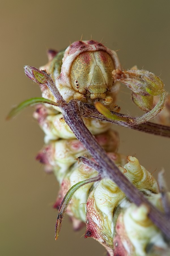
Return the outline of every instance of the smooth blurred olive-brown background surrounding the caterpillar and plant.
<path id="1" fill-rule="evenodd" d="M 40 96 L 39 86 L 25 77 L 23 66 L 47 62 L 46 50 L 63 49 L 69 42 L 92 39 L 119 50 L 122 67 L 137 64 L 160 75 L 169 90 L 169 1 L 5 1 L 1 20 L 1 237 L 0 255 L 105 255 L 85 230 L 72 231 L 66 216 L 58 241 L 54 240 L 57 211 L 52 208 L 58 191 L 53 175 L 47 175 L 35 155 L 43 145 L 43 133 L 24 110 L 5 121 L 9 110 L 21 101 Z M 121 112 L 137 114 L 130 92 L 122 87 Z M 134 111 L 134 110 L 135 111 Z M 136 154 L 140 163 L 157 176 L 169 174 L 169 139 L 115 127 L 120 131 L 119 152 Z"/>

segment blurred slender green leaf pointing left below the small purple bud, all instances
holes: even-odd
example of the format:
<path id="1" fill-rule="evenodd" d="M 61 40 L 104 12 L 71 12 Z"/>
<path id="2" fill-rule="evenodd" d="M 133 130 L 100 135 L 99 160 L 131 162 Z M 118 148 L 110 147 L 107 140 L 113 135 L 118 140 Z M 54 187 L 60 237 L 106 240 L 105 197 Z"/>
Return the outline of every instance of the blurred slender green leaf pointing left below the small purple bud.
<path id="1" fill-rule="evenodd" d="M 41 104 L 41 103 L 47 103 L 47 104 L 51 104 L 51 105 L 54 105 L 54 106 L 59 106 L 59 104 L 57 102 L 53 102 L 53 101 L 45 99 L 45 98 L 31 98 L 29 100 L 25 100 L 25 101 L 21 102 L 18 106 L 13 108 L 7 116 L 7 120 L 16 116 L 24 108 L 29 107 L 29 106 L 33 106 L 35 104 Z"/>

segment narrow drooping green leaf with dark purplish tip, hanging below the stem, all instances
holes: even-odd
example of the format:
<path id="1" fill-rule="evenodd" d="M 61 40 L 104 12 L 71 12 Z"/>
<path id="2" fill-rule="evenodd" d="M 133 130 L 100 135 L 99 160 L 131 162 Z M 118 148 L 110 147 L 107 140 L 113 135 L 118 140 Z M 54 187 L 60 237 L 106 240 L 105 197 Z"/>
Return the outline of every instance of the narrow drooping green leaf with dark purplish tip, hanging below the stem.
<path id="1" fill-rule="evenodd" d="M 60 232 L 60 229 L 61 229 L 61 223 L 62 223 L 62 220 L 64 218 L 64 214 L 65 214 L 65 211 L 67 209 L 67 206 L 69 205 L 70 203 L 70 200 L 71 198 L 73 197 L 74 193 L 80 188 L 82 187 L 83 185 L 85 184 L 88 184 L 88 183 L 91 183 L 91 182 L 95 182 L 95 181 L 98 181 L 101 179 L 101 176 L 100 175 L 97 175 L 93 178 L 90 178 L 90 179 L 86 179 L 84 181 L 80 181 L 78 183 L 76 183 L 75 185 L 73 185 L 69 191 L 66 193 L 65 197 L 63 198 L 63 201 L 61 202 L 61 205 L 59 206 L 59 209 L 58 209 L 58 215 L 57 215 L 57 220 L 56 220 L 56 227 L 55 227 L 55 240 L 58 239 L 58 236 L 59 236 L 59 232 Z"/>

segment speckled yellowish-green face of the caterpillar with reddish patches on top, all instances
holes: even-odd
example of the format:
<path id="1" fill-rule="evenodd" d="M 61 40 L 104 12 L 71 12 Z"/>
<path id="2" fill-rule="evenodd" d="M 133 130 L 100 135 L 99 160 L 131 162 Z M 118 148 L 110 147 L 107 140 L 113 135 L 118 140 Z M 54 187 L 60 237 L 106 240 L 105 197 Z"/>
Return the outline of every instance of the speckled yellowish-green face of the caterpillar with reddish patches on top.
<path id="1" fill-rule="evenodd" d="M 70 69 L 70 83 L 76 92 L 90 99 L 105 98 L 105 92 L 113 85 L 114 63 L 106 51 L 80 53 Z"/>

